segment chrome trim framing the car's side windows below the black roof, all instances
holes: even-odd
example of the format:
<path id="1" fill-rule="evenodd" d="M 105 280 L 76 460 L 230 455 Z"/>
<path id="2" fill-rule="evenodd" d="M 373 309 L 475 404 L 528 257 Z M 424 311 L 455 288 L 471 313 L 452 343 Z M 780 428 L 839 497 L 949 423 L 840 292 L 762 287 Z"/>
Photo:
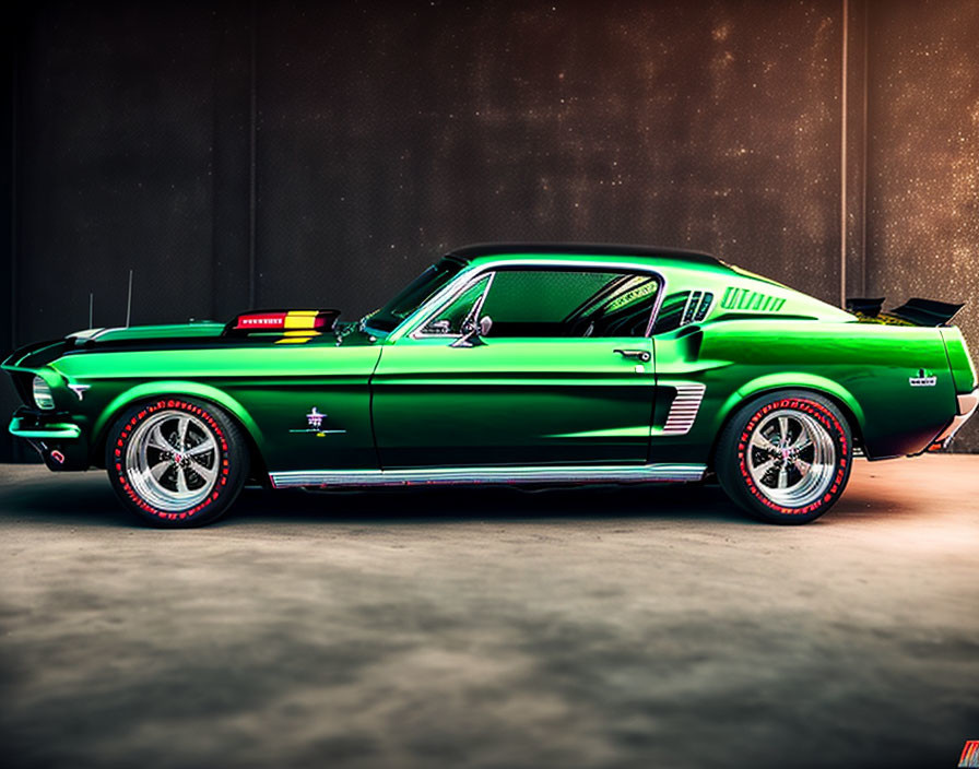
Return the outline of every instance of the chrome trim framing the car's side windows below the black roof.
<path id="1" fill-rule="evenodd" d="M 652 329 L 656 327 L 657 318 L 660 313 L 660 308 L 663 304 L 663 298 L 667 295 L 667 276 L 663 272 L 653 267 L 646 267 L 642 264 L 635 264 L 632 262 L 625 261 L 590 261 L 590 260 L 580 260 L 580 259 L 499 259 L 496 261 L 484 262 L 476 268 L 472 268 L 471 270 L 463 270 L 456 275 L 449 283 L 440 291 L 438 291 L 435 296 L 429 297 L 428 301 L 422 305 L 417 310 L 415 310 L 412 315 L 405 318 L 398 328 L 396 328 L 388 340 L 390 342 L 397 342 L 402 336 L 409 335 L 413 340 L 421 339 L 459 339 L 459 334 L 423 334 L 418 333 L 421 329 L 425 327 L 425 324 L 432 320 L 432 317 L 436 313 L 440 312 L 448 304 L 455 301 L 464 291 L 470 288 L 475 282 L 477 282 L 485 273 L 487 272 L 496 272 L 500 269 L 506 268 L 516 268 L 516 269 L 536 269 L 536 270 L 564 270 L 566 272 L 573 271 L 582 271 L 582 272 L 600 272 L 602 270 L 605 271 L 618 271 L 618 272 L 633 272 L 639 274 L 648 274 L 652 275 L 659 282 L 659 294 L 657 295 L 656 301 L 652 305 L 652 309 L 649 312 L 649 322 L 646 324 L 646 333 L 636 339 L 649 339 L 652 336 Z M 492 285 L 493 280 L 491 277 L 490 285 Z M 487 289 L 488 289 L 487 285 Z M 485 298 L 485 293 L 483 294 Z"/>

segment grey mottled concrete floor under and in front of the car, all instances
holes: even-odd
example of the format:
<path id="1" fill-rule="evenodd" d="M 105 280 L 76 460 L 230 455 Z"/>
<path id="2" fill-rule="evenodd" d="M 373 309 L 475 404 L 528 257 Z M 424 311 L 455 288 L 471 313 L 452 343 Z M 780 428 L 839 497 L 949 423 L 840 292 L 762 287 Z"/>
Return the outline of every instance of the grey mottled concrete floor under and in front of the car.
<path id="1" fill-rule="evenodd" d="M 710 487 L 246 492 L 132 525 L 0 465 L 5 767 L 954 767 L 979 456 L 799 528 Z"/>

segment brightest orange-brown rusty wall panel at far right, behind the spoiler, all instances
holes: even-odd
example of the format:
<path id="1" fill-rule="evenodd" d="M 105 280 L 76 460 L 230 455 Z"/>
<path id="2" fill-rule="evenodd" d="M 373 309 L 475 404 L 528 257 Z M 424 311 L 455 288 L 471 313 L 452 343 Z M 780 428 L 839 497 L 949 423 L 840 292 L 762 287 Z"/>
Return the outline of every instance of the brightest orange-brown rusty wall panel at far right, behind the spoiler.
<path id="1" fill-rule="evenodd" d="M 979 354 L 979 4 L 871 5 L 869 292 L 966 301 Z M 979 451 L 979 422 L 955 440 Z"/>

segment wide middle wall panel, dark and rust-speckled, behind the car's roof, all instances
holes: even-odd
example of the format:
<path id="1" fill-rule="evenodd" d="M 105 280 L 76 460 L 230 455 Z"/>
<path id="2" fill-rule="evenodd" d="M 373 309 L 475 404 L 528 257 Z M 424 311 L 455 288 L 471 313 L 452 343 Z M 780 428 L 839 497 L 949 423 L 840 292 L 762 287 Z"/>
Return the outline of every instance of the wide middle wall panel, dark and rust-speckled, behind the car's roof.
<path id="1" fill-rule="evenodd" d="M 706 249 L 838 299 L 838 2 L 259 5 L 261 305 L 446 248 Z"/>

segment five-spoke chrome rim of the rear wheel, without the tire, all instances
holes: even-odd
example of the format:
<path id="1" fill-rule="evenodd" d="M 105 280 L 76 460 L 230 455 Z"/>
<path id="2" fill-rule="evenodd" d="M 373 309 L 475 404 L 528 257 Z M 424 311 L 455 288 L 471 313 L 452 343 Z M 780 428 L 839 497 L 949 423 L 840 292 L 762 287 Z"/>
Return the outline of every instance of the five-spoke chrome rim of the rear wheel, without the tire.
<path id="1" fill-rule="evenodd" d="M 792 409 L 768 414 L 751 435 L 747 470 L 758 489 L 777 505 L 805 507 L 833 483 L 836 447 L 815 418 Z"/>

